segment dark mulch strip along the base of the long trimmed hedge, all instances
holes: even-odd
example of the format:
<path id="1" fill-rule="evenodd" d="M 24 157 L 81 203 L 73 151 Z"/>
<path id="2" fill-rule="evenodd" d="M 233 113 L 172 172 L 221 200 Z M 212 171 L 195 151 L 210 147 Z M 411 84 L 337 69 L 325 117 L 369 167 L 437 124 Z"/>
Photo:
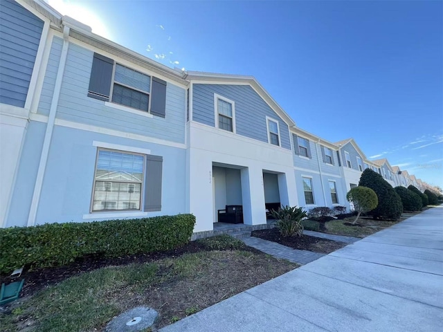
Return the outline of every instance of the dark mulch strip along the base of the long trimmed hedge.
<path id="1" fill-rule="evenodd" d="M 149 263 L 163 258 L 179 257 L 183 254 L 208 250 L 199 243 L 193 241 L 181 248 L 163 252 L 141 253 L 138 255 L 127 255 L 123 257 L 109 258 L 103 255 L 91 255 L 82 257 L 67 266 L 57 266 L 52 268 L 40 268 L 37 270 L 28 270 L 24 268 L 24 272 L 19 278 L 11 278 L 9 275 L 0 275 L 0 284 L 17 281 L 17 279 L 25 279 L 25 284 L 21 290 L 21 297 L 33 295 L 40 289 L 62 282 L 64 279 L 79 275 L 80 273 L 89 272 L 105 266 L 123 266 L 132 263 Z M 253 248 L 246 247 L 244 250 L 257 251 Z"/>

